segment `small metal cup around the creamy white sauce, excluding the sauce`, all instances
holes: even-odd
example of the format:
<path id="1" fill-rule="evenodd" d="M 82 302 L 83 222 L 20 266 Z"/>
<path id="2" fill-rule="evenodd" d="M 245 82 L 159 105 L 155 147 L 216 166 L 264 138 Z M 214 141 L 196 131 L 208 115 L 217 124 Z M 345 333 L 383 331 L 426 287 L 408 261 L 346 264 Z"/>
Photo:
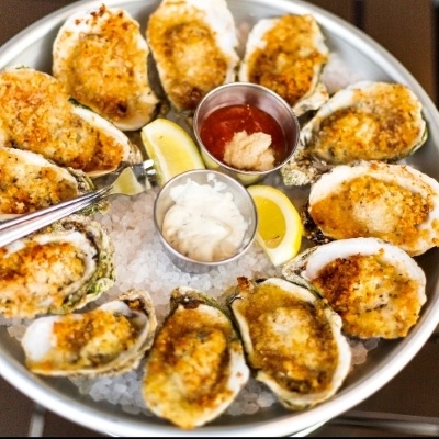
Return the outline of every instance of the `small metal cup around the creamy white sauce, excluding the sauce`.
<path id="1" fill-rule="evenodd" d="M 226 184 L 226 188 L 222 192 L 223 193 L 230 192 L 233 194 L 233 201 L 238 207 L 245 221 L 247 222 L 248 227 L 245 233 L 243 243 L 235 255 L 230 256 L 227 259 L 207 262 L 189 258 L 188 256 L 182 255 L 178 250 L 176 250 L 166 240 L 162 234 L 162 224 L 166 213 L 175 204 L 175 201 L 170 195 L 170 191 L 172 188 L 176 188 L 177 185 L 180 184 L 184 184 L 188 181 L 188 179 L 199 184 L 213 185 L 214 182 L 211 180 L 211 177 L 213 177 L 216 181 Z M 209 209 L 210 204 L 206 203 L 205 210 L 209 211 Z M 227 212 L 225 212 L 224 214 L 227 215 Z M 225 173 L 207 169 L 196 169 L 182 172 L 173 177 L 167 183 L 165 183 L 165 185 L 160 189 L 159 193 L 157 194 L 154 203 L 154 222 L 156 229 L 158 230 L 158 234 L 160 236 L 161 243 L 165 246 L 165 249 L 172 263 L 180 270 L 189 273 L 205 273 L 215 267 L 235 261 L 250 248 L 256 236 L 258 216 L 255 202 L 250 193 L 246 190 L 246 188 L 243 184 L 240 184 L 238 181 L 236 181 L 235 179 Z"/>

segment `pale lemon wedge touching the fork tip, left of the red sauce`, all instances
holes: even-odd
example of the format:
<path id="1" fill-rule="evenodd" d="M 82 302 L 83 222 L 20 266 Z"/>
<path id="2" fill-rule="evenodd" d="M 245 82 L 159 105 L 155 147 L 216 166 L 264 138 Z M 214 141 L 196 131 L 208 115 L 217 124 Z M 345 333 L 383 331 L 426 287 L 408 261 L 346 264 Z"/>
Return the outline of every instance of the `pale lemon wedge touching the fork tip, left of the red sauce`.
<path id="1" fill-rule="evenodd" d="M 177 123 L 156 119 L 140 131 L 146 154 L 154 160 L 158 182 L 192 169 L 205 169 L 200 150 L 192 137 Z"/>

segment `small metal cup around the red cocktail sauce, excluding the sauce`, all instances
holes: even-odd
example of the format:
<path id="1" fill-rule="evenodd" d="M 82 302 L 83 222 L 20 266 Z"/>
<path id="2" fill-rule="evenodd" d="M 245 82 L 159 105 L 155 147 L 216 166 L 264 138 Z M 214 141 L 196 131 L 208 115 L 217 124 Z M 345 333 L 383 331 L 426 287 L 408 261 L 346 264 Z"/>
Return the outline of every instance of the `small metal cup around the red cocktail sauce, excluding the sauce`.
<path id="1" fill-rule="evenodd" d="M 223 106 L 243 104 L 255 105 L 263 110 L 273 116 L 282 128 L 286 139 L 288 153 L 280 164 L 269 170 L 245 171 L 233 168 L 214 157 L 200 137 L 201 127 L 213 111 Z M 300 124 L 291 106 L 278 93 L 256 83 L 229 82 L 215 88 L 201 100 L 193 116 L 193 132 L 207 169 L 227 173 L 243 184 L 249 185 L 262 180 L 266 176 L 286 164 L 297 146 Z"/>

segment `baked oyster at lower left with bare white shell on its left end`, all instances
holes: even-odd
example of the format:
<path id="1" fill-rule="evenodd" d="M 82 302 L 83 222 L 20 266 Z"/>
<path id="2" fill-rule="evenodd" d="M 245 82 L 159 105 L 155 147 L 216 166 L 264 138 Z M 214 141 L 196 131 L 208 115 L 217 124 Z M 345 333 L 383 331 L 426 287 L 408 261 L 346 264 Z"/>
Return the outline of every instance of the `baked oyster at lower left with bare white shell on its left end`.
<path id="1" fill-rule="evenodd" d="M 157 326 L 153 301 L 130 290 L 82 314 L 41 317 L 21 340 L 25 365 L 42 375 L 115 375 L 136 368 Z"/>

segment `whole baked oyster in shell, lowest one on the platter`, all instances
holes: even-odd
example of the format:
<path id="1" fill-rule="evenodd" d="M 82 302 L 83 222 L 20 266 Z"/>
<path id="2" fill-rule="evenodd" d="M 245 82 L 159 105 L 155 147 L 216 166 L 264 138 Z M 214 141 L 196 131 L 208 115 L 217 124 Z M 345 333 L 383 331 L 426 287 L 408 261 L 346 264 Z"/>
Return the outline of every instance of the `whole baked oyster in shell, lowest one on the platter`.
<path id="1" fill-rule="evenodd" d="M 143 395 L 154 414 L 193 429 L 232 404 L 249 370 L 232 320 L 213 297 L 180 286 L 170 307 L 147 358 Z"/>

